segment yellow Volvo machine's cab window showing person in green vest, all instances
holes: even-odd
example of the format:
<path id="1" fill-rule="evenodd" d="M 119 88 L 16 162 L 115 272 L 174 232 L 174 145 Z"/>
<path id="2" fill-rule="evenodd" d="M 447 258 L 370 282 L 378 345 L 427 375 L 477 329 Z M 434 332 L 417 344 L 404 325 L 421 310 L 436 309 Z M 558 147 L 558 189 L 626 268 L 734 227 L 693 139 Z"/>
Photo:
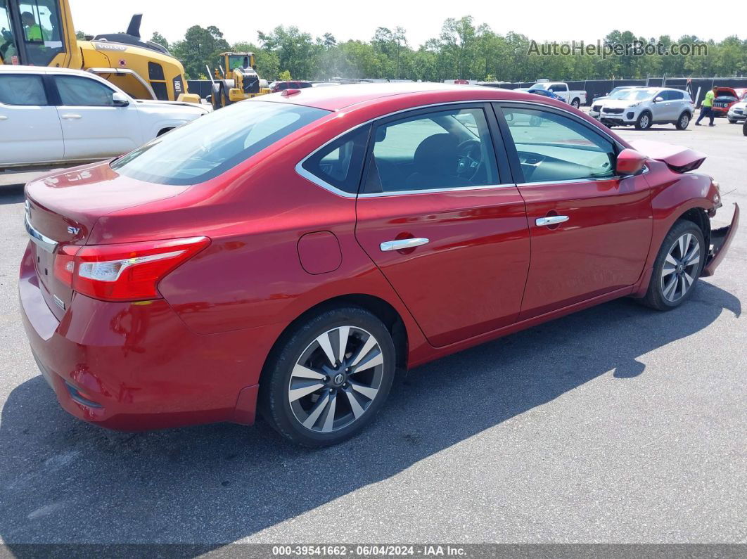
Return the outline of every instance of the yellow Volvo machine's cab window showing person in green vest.
<path id="1" fill-rule="evenodd" d="M 22 0 L 18 7 L 28 62 L 47 66 L 64 51 L 58 0 Z"/>

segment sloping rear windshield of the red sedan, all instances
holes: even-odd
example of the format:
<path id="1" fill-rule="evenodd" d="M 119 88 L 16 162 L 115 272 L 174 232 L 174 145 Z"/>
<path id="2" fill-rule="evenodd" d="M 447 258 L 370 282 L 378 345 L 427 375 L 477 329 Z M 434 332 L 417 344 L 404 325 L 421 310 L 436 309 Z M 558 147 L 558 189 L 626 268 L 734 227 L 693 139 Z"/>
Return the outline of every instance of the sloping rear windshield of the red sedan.
<path id="1" fill-rule="evenodd" d="M 156 184 L 197 184 L 329 114 L 300 105 L 247 101 L 199 117 L 111 163 L 120 175 Z"/>

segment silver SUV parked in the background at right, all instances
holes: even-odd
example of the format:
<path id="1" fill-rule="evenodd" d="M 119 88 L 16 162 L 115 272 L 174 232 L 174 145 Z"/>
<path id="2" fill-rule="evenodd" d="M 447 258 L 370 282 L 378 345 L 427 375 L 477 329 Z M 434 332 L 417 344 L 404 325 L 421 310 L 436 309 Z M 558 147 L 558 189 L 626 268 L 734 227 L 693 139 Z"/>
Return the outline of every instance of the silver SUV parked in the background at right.
<path id="1" fill-rule="evenodd" d="M 622 90 L 602 102 L 599 119 L 607 126 L 634 125 L 647 130 L 654 124 L 673 124 L 684 130 L 695 107 L 685 91 L 662 87 Z"/>

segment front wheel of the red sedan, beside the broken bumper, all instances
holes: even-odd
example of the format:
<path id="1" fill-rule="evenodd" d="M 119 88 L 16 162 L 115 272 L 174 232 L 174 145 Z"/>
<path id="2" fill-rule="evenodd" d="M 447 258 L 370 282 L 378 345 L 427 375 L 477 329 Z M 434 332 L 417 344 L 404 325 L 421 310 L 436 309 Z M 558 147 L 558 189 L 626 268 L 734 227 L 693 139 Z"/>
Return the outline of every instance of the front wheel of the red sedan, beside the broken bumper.
<path id="1" fill-rule="evenodd" d="M 657 310 L 679 307 L 692 295 L 705 262 L 703 232 L 680 220 L 664 237 L 643 303 Z"/>

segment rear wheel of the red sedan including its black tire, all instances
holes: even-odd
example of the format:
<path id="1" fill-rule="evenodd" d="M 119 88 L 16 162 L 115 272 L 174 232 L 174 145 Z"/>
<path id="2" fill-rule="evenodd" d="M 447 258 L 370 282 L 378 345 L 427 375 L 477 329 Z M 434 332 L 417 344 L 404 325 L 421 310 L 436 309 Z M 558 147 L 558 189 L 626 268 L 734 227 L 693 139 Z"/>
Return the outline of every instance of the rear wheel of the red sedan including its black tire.
<path id="1" fill-rule="evenodd" d="M 335 329 L 345 327 L 350 327 L 349 337 L 346 337 L 346 340 L 350 341 L 346 342 L 343 349 L 346 352 L 344 358 L 339 366 L 332 370 L 332 363 L 329 363 L 326 357 L 329 354 L 317 340 L 324 337 L 325 333 L 332 333 L 326 340 L 329 342 L 328 347 L 332 355 L 336 356 L 343 334 L 341 330 Z M 334 334 L 335 331 L 337 334 Z M 359 352 L 365 350 L 369 341 L 367 334 L 373 337 L 376 346 L 372 346 L 357 365 L 360 367 L 361 363 L 373 362 L 373 358 L 366 358 L 369 355 L 376 357 L 381 363 L 356 374 L 355 358 Z M 347 352 L 348 349 L 350 352 Z M 384 405 L 394 380 L 394 352 L 391 334 L 381 320 L 368 310 L 361 307 L 323 310 L 285 334 L 268 358 L 259 388 L 261 414 L 282 437 L 293 443 L 309 447 L 341 443 L 365 428 Z M 299 376 L 296 370 L 300 363 L 304 363 L 303 367 L 309 367 L 312 373 L 323 372 L 327 376 L 318 380 Z M 323 368 L 324 364 L 326 368 Z M 309 369 L 305 369 L 306 372 Z M 350 378 L 347 378 L 348 371 L 351 371 Z M 360 376 L 362 374 L 364 376 Z M 338 379 L 341 375 L 344 379 Z M 370 385 L 366 378 L 371 379 Z M 306 391 L 317 384 L 320 388 L 314 392 L 295 399 L 292 396 L 294 392 L 294 396 L 297 396 L 299 388 Z M 353 384 L 366 390 L 376 387 L 376 393 L 373 398 L 362 396 L 362 393 L 357 391 L 359 389 L 353 390 Z M 359 406 L 357 410 L 353 410 L 353 404 L 356 402 L 350 399 L 349 393 L 355 396 L 354 399 Z M 338 397 L 340 400 L 337 400 Z M 291 399 L 294 402 L 291 403 Z M 332 405 L 333 399 L 335 405 Z M 330 413 L 332 420 L 329 425 L 332 431 L 324 432 L 323 430 L 328 428 L 327 419 Z M 305 421 L 302 422 L 302 419 Z M 309 423 L 310 427 L 304 426 L 305 422 Z"/>

